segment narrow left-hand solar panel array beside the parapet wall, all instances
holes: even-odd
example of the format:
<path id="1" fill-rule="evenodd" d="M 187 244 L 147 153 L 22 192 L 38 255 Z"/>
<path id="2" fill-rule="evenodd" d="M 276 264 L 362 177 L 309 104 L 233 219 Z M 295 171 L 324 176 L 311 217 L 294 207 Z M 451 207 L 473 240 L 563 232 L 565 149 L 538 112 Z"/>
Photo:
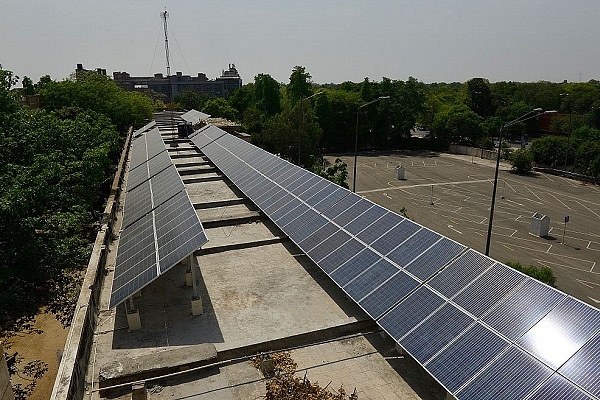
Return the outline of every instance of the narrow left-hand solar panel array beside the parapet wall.
<path id="1" fill-rule="evenodd" d="M 133 136 L 111 308 L 208 241 L 158 128 Z"/>

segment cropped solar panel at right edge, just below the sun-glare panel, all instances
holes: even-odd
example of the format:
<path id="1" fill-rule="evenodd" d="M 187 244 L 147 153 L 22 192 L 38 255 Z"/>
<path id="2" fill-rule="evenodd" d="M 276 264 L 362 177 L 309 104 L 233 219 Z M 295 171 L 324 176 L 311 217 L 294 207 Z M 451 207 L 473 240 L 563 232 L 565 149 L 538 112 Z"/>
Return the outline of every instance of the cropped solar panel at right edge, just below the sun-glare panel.
<path id="1" fill-rule="evenodd" d="M 600 397 L 600 332 L 587 342 L 559 370 L 585 390 Z"/>

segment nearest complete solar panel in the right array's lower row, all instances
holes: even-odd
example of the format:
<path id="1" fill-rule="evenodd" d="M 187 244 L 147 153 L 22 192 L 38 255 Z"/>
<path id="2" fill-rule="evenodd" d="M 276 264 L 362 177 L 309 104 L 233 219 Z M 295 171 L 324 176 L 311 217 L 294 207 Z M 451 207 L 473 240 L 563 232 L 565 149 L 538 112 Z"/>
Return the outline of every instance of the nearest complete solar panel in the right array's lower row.
<path id="1" fill-rule="evenodd" d="M 507 341 L 475 324 L 427 361 L 425 369 L 450 393 L 455 393 L 508 346 Z"/>

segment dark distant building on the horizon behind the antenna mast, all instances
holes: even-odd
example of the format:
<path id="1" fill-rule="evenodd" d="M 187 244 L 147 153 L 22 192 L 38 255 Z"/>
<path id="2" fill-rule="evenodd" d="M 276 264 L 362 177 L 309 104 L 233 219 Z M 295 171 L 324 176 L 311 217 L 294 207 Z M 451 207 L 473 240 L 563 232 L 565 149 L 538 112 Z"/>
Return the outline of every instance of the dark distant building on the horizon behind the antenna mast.
<path id="1" fill-rule="evenodd" d="M 161 73 L 153 77 L 131 76 L 127 72 L 113 72 L 113 79 L 117 85 L 129 91 L 153 90 L 169 96 L 169 78 Z M 236 89 L 242 87 L 242 78 L 235 68 L 235 64 L 229 64 L 229 69 L 223 71 L 221 76 L 210 80 L 206 74 L 199 72 L 198 76 L 183 75 L 176 72 L 170 77 L 172 96 L 184 90 L 194 90 L 200 93 L 210 93 L 217 97 L 228 97 Z"/>

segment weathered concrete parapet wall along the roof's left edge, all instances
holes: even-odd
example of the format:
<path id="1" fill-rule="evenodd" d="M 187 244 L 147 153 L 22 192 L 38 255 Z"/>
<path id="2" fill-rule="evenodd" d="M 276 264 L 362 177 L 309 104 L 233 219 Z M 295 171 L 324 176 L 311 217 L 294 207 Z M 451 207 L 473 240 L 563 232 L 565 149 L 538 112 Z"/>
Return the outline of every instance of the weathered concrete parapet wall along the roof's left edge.
<path id="1" fill-rule="evenodd" d="M 129 130 L 119 165 L 113 179 L 110 196 L 106 202 L 100 231 L 88 262 L 81 292 L 77 300 L 71 329 L 58 367 L 58 375 L 52 389 L 52 400 L 81 399 L 85 393 L 85 375 L 94 337 L 100 288 L 104 277 L 107 247 L 112 240 L 112 227 L 117 216 L 121 185 L 125 175 L 125 163 L 131 144 L 132 130 Z"/>

